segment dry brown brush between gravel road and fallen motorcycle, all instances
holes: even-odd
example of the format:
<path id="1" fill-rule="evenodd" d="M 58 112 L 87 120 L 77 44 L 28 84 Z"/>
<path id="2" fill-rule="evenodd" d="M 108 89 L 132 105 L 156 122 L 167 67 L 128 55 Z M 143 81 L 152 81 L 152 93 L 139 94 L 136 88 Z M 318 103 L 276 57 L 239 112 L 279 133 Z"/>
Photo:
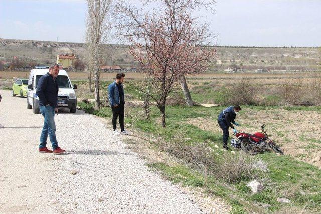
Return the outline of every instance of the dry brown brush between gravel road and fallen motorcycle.
<path id="1" fill-rule="evenodd" d="M 161 151 L 165 151 L 191 165 L 196 170 L 204 173 L 205 177 L 212 175 L 230 183 L 238 183 L 242 180 L 251 180 L 264 172 L 255 165 L 257 161 L 240 153 L 234 155 L 224 153 L 223 157 L 216 158 L 215 152 L 207 142 L 188 144 L 185 137 L 178 132 L 170 141 L 158 139 L 157 145 Z"/>

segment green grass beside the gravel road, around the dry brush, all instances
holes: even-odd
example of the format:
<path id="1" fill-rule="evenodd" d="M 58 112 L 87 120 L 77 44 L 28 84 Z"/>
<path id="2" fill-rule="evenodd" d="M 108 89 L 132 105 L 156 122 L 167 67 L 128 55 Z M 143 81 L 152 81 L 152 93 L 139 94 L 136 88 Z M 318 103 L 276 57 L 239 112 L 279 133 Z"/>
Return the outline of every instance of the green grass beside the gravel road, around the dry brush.
<path id="1" fill-rule="evenodd" d="M 111 117 L 110 107 L 101 108 L 100 111 L 94 110 L 93 103 L 79 103 L 87 113 L 95 114 L 101 117 Z M 194 125 L 186 124 L 185 121 L 190 118 L 209 118 L 216 120 L 218 113 L 224 107 L 185 107 L 185 106 L 167 106 L 166 108 L 166 128 L 162 128 L 159 124 L 159 110 L 157 107 L 151 107 L 150 119 L 146 119 L 145 115 L 141 114 L 141 107 L 127 107 L 126 123 L 131 123 L 133 128 L 153 135 L 154 137 L 161 136 L 163 139 L 171 142 L 171 139 L 176 135 L 182 135 L 185 138 L 191 138 L 186 143 L 201 143 L 208 142 L 217 154 L 216 158 L 222 158 L 223 152 L 221 148 L 222 136 L 221 133 L 212 133 L 199 129 Z M 282 107 L 271 106 L 244 106 L 245 109 L 252 110 L 276 110 Z M 298 110 L 297 108 L 284 107 L 287 110 Z M 300 110 L 309 111 L 310 107 L 299 107 Z M 320 109 L 320 107 L 313 107 Z M 278 133 L 282 135 L 283 133 Z M 314 139 L 315 140 L 315 139 Z M 219 146 L 216 148 L 215 145 Z M 230 154 L 230 153 L 229 153 Z M 238 155 L 239 152 L 236 151 Z M 226 183 L 223 180 L 215 179 L 209 176 L 205 185 L 203 173 L 195 169 L 177 164 L 169 166 L 166 163 L 154 163 L 150 167 L 161 171 L 164 176 L 175 183 L 182 183 L 188 186 L 197 186 L 204 188 L 209 194 L 220 196 L 231 204 L 232 213 L 247 212 L 273 212 L 280 208 L 294 206 L 298 208 L 309 208 L 321 212 L 321 196 L 317 194 L 321 192 L 321 172 L 310 164 L 294 160 L 290 156 L 276 156 L 272 152 L 263 153 L 257 156 L 268 164 L 269 172 L 265 174 L 268 182 L 271 185 L 266 185 L 266 189 L 258 194 L 252 194 L 246 187 L 249 180 L 241 180 L 238 183 Z M 289 174 L 289 175 L 288 175 Z M 289 189 L 297 188 L 294 193 L 286 193 Z M 305 195 L 300 191 L 304 191 Z M 276 201 L 277 197 L 286 197 L 291 200 L 290 204 L 281 204 Z M 261 208 L 258 203 L 269 204 L 270 207 L 266 210 Z"/>

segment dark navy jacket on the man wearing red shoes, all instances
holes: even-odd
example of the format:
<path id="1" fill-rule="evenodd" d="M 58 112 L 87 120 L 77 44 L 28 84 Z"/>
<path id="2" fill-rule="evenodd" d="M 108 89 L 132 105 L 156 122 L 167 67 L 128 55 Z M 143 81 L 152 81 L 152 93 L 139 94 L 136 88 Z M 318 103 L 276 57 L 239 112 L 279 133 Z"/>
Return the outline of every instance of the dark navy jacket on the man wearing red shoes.
<path id="1" fill-rule="evenodd" d="M 39 97 L 39 106 L 49 104 L 53 108 L 58 108 L 58 90 L 58 83 L 49 73 L 40 77 L 36 91 Z"/>

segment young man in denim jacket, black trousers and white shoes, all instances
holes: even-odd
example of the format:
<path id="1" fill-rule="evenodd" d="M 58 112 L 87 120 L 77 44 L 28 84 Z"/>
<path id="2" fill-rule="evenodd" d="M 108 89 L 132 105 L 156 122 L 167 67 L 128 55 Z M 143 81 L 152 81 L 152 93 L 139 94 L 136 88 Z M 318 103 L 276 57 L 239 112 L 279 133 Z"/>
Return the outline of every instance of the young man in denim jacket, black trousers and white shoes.
<path id="1" fill-rule="evenodd" d="M 108 99 L 112 110 L 112 126 L 114 135 L 129 135 L 130 133 L 125 130 L 124 117 L 125 117 L 125 93 L 122 83 L 124 82 L 125 74 L 118 73 L 116 80 L 108 86 Z M 117 130 L 117 117 L 119 116 L 120 132 Z"/>

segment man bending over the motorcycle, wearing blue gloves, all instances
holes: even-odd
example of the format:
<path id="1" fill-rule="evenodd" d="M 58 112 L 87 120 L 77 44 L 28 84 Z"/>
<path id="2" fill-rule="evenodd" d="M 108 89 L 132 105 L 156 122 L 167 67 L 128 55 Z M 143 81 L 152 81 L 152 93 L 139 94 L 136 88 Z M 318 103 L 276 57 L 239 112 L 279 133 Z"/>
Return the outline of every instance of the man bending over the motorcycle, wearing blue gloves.
<path id="1" fill-rule="evenodd" d="M 226 150 L 228 150 L 227 140 L 229 138 L 229 127 L 231 127 L 234 132 L 237 132 L 232 123 L 236 126 L 240 126 L 240 124 L 235 122 L 234 119 L 236 117 L 236 114 L 241 110 L 242 109 L 239 105 L 227 107 L 226 109 L 221 111 L 217 119 L 220 128 L 223 130 L 223 148 Z"/>

